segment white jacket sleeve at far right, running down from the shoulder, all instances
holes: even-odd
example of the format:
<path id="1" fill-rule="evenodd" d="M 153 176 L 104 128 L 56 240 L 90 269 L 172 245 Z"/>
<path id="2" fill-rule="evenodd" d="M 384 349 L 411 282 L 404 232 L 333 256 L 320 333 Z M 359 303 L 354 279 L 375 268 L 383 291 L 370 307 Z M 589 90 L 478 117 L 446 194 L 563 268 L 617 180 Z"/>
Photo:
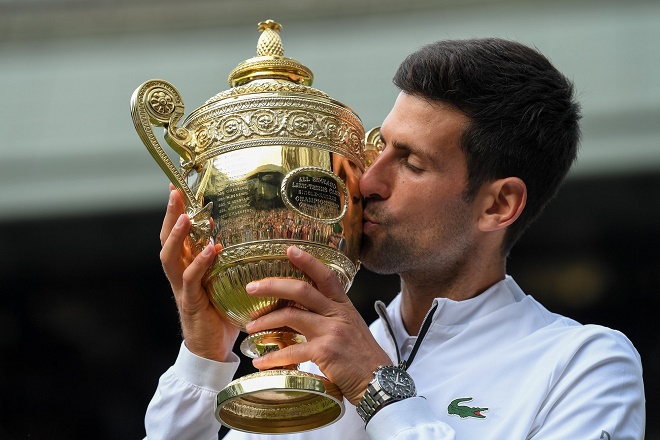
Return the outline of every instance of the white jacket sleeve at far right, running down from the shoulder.
<path id="1" fill-rule="evenodd" d="M 585 328 L 589 337 L 557 372 L 528 438 L 643 440 L 646 403 L 639 354 L 618 331 Z"/>

